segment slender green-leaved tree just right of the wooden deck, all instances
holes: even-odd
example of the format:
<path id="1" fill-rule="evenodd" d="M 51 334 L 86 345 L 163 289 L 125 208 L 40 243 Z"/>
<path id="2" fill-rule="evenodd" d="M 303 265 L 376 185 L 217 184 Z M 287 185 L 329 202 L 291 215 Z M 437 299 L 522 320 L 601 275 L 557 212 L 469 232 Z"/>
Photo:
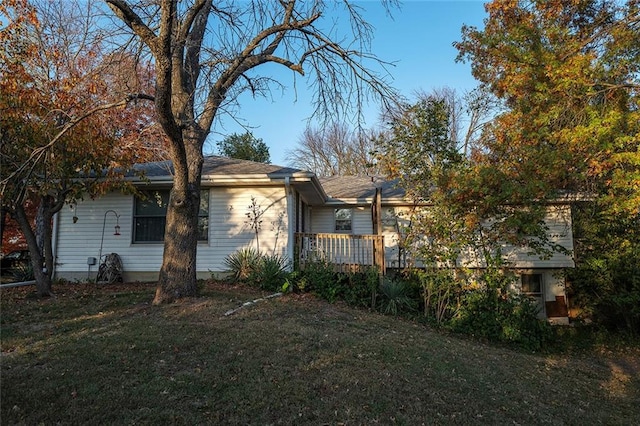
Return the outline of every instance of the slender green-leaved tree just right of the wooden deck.
<path id="1" fill-rule="evenodd" d="M 389 137 L 378 140 L 379 167 L 415 206 L 406 213 L 410 225 L 400 230 L 400 246 L 424 265 L 426 272 L 414 275 L 425 315 L 438 322 L 450 318 L 451 301 L 461 289 L 458 258 L 475 231 L 451 196 L 466 159 L 451 138 L 450 112 L 444 98 L 423 96 L 394 111 Z"/>

